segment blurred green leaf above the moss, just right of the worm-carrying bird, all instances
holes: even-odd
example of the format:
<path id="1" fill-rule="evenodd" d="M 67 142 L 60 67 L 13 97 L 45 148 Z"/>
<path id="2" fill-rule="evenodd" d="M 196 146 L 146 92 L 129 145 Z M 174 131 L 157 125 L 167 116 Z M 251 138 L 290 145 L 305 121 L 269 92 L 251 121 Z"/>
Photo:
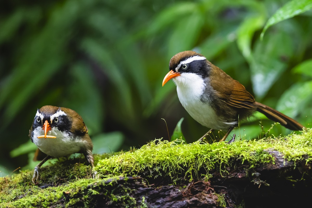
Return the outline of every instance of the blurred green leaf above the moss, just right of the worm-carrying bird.
<path id="1" fill-rule="evenodd" d="M 102 154 L 120 151 L 124 142 L 124 135 L 121 132 L 101 133 L 92 138 L 93 153 Z"/>

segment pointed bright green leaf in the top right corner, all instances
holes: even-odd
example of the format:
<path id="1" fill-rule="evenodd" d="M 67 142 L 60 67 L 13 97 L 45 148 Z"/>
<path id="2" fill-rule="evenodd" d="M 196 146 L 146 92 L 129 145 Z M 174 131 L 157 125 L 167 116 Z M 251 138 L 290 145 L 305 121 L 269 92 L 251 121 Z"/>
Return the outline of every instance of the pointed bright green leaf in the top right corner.
<path id="1" fill-rule="evenodd" d="M 278 22 L 289 19 L 296 15 L 299 15 L 303 12 L 306 12 L 312 8 L 311 0 L 292 0 L 287 2 L 283 7 L 278 9 L 275 14 L 270 17 L 270 19 L 266 22 L 266 25 L 261 32 L 261 40 L 263 39 L 264 33 L 266 30 L 275 25 Z"/>

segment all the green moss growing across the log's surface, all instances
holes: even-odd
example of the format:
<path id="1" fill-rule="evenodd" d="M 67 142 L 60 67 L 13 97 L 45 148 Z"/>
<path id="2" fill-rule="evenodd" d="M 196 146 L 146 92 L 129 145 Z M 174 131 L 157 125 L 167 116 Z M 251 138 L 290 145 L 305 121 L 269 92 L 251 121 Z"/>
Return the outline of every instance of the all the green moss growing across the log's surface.
<path id="1" fill-rule="evenodd" d="M 48 186 L 46 188 L 32 184 L 33 170 L 0 178 L 0 206 L 50 207 L 62 204 L 65 207 L 93 207 L 93 199 L 96 199 L 122 207 L 147 207 L 143 197 L 140 202 L 131 197 L 133 190 L 121 186 L 119 177 L 166 177 L 171 179 L 171 184 L 180 179 L 205 177 L 207 180 L 216 171 L 226 175 L 228 167 L 235 165 L 248 164 L 248 168 L 254 168 L 263 163 L 274 163 L 267 150 L 280 152 L 285 161 L 308 163 L 312 158 L 312 130 L 299 135 L 231 144 L 177 144 L 155 140 L 135 151 L 114 156 L 95 155 L 93 171 L 97 171 L 102 179 L 91 178 L 90 166 L 84 164 L 83 156 L 55 162 L 41 169 L 39 183 Z M 222 195 L 218 195 L 218 202 L 220 206 L 225 205 Z"/>

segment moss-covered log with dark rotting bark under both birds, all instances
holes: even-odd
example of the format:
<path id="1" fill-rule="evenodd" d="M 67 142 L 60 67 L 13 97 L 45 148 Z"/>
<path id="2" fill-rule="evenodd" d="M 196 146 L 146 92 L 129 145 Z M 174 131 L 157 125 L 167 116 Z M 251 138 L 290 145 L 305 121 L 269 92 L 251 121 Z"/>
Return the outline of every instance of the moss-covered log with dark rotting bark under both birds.
<path id="1" fill-rule="evenodd" d="M 96 179 L 83 156 L 42 167 L 38 185 L 31 182 L 32 170 L 0 178 L 0 207 L 164 207 L 158 196 L 170 206 L 175 201 L 173 207 L 198 205 L 201 199 L 213 207 L 238 206 L 244 199 L 233 201 L 216 181 L 235 178 L 231 184 L 238 180 L 261 190 L 274 188 L 271 182 L 278 177 L 291 187 L 298 181 L 309 186 L 311 160 L 311 129 L 231 144 L 155 140 L 135 151 L 95 155 Z M 259 176 L 271 169 L 277 169 L 273 179 Z"/>

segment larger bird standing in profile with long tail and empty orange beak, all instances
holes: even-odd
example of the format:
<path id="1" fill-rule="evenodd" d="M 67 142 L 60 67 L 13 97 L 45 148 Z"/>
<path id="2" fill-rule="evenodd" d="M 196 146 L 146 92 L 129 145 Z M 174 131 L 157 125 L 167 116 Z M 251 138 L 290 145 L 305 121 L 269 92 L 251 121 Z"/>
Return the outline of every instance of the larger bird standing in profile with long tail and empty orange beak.
<path id="1" fill-rule="evenodd" d="M 171 58 L 163 86 L 171 79 L 188 114 L 198 123 L 211 128 L 199 140 L 217 129 L 227 131 L 220 139 L 225 141 L 233 128 L 238 126 L 239 120 L 250 117 L 255 111 L 290 130 L 304 128 L 285 114 L 256 102 L 241 83 L 195 51 L 179 52 Z"/>

